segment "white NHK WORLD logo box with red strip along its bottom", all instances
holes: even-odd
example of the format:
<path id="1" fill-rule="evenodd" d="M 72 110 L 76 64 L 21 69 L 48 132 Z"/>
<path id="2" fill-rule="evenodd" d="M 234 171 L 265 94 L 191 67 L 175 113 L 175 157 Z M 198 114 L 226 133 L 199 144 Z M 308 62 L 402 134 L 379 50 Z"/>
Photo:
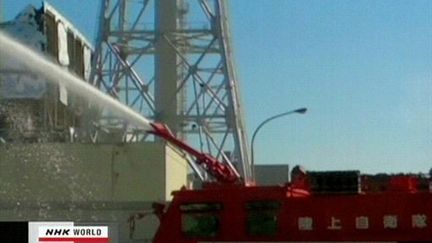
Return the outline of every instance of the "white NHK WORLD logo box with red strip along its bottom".
<path id="1" fill-rule="evenodd" d="M 39 243 L 109 243 L 107 226 L 40 226 Z"/>

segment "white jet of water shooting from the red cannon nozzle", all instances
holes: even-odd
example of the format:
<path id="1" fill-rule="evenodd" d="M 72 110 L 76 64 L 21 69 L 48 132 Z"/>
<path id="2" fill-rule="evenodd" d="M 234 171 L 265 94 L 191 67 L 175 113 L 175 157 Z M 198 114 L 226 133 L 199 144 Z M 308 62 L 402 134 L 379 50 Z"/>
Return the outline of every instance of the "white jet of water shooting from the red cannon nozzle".
<path id="1" fill-rule="evenodd" d="M 131 108 L 123 105 L 85 81 L 75 77 L 58 65 L 46 60 L 42 55 L 14 41 L 0 32 L 0 59 L 13 60 L 24 64 L 29 71 L 39 74 L 50 82 L 64 85 L 68 90 L 79 95 L 101 108 L 108 108 L 131 124 L 147 130 L 153 130 L 151 121 Z"/>

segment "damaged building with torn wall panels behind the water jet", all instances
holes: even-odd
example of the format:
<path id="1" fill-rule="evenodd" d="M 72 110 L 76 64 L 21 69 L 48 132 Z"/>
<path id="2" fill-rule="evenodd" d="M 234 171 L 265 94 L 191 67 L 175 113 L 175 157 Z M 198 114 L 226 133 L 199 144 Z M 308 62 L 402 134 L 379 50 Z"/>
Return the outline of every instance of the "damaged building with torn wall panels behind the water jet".
<path id="1" fill-rule="evenodd" d="M 89 80 L 90 42 L 47 2 L 40 8 L 27 6 L 13 20 L 0 23 L 0 30 L 83 82 Z M 30 69 L 0 58 L 0 143 L 87 141 L 78 132 L 84 127 L 86 102 Z"/>

